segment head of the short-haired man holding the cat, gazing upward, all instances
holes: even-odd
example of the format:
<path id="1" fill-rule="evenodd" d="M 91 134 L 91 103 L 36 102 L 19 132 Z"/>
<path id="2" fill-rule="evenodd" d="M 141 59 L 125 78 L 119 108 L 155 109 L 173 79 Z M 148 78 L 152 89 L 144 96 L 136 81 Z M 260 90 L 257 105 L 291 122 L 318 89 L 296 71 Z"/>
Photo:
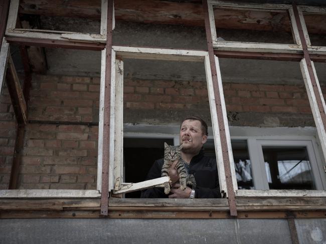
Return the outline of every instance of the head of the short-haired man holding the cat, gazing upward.
<path id="1" fill-rule="evenodd" d="M 203 144 L 207 141 L 207 135 L 201 127 L 199 120 L 185 120 L 180 128 L 180 143 L 183 144 L 183 151 L 198 153 Z"/>

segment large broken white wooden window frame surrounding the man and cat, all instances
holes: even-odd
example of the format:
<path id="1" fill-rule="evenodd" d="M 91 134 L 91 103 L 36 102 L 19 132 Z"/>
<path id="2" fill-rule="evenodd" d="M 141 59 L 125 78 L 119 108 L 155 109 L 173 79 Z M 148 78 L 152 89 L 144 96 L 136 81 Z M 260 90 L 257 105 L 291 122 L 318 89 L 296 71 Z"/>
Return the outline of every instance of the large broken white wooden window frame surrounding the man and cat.
<path id="1" fill-rule="evenodd" d="M 103 51 L 105 53 L 105 51 Z M 123 139 L 123 126 L 121 126 L 123 121 L 123 101 L 121 90 L 123 89 L 123 70 L 118 70 L 117 63 L 121 63 L 120 60 L 116 59 L 116 56 L 122 58 L 137 58 L 137 59 L 158 59 L 158 60 L 174 60 L 174 61 L 201 61 L 205 65 L 206 69 L 206 77 L 207 77 L 207 88 L 209 94 L 209 102 L 211 107 L 211 117 L 213 124 L 213 134 L 215 138 L 215 150 L 217 155 L 217 166 L 219 169 L 219 179 L 220 179 L 220 188 L 222 192 L 227 192 L 226 190 L 226 182 L 225 182 L 225 172 L 224 172 L 224 164 L 222 157 L 222 147 L 221 140 L 219 136 L 219 128 L 218 128 L 218 116 L 216 112 L 215 105 L 215 96 L 213 90 L 213 81 L 212 81 L 212 73 L 209 64 L 209 56 L 207 51 L 198 51 L 198 50 L 183 50 L 183 49 L 165 49 L 165 48 L 145 48 L 145 47 L 126 47 L 126 46 L 112 46 L 112 72 L 111 72 L 111 114 L 110 114 L 110 164 L 109 164 L 109 191 L 112 191 L 113 194 L 121 194 L 126 193 L 132 190 L 139 190 L 141 187 L 144 187 L 144 182 L 137 183 L 129 183 L 129 184 L 121 184 L 122 179 L 122 162 L 123 162 L 123 153 L 121 152 L 121 147 L 123 143 L 121 142 Z M 103 63 L 105 63 L 105 54 L 102 55 L 102 67 Z M 121 64 L 120 64 L 121 66 Z M 102 72 L 103 69 L 102 69 Z M 101 73 L 101 77 L 105 77 L 103 73 Z M 221 78 L 219 78 L 221 81 Z M 224 97 L 223 97 L 223 89 L 221 89 L 222 84 L 219 84 L 220 90 L 222 92 L 222 103 L 224 106 L 224 111 L 226 111 Z M 103 108 L 104 108 L 104 78 L 101 79 L 101 91 L 100 91 L 100 123 L 99 123 L 99 154 L 98 154 L 98 174 L 97 174 L 97 189 L 101 191 L 101 170 L 102 170 L 102 149 L 101 141 L 103 140 Z M 118 113 L 116 113 L 118 112 Z M 226 116 L 225 116 L 226 117 Z M 223 121 L 226 126 L 226 130 L 228 130 L 228 123 L 225 118 Z M 230 138 L 230 137 L 229 137 Z M 177 139 L 176 139 L 177 141 Z M 231 143 L 228 143 L 231 145 Z M 232 155 L 232 149 L 229 148 L 229 153 Z M 114 156 L 115 155 L 115 156 Z M 233 167 L 233 160 L 232 164 Z M 234 171 L 234 170 L 233 170 Z M 167 182 L 168 179 L 162 181 L 162 178 L 157 178 L 156 180 L 152 180 L 151 182 L 147 182 L 145 187 L 152 187 L 156 185 L 160 185 L 164 182 Z M 129 189 L 128 189 L 129 188 Z"/>

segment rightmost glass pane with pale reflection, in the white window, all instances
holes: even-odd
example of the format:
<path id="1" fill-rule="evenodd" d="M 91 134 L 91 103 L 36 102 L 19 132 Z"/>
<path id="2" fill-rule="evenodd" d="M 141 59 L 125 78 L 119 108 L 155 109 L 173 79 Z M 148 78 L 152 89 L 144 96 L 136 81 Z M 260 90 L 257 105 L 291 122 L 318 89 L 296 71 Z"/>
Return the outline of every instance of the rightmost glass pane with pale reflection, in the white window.
<path id="1" fill-rule="evenodd" d="M 314 189 L 312 171 L 305 147 L 263 146 L 270 189 Z"/>

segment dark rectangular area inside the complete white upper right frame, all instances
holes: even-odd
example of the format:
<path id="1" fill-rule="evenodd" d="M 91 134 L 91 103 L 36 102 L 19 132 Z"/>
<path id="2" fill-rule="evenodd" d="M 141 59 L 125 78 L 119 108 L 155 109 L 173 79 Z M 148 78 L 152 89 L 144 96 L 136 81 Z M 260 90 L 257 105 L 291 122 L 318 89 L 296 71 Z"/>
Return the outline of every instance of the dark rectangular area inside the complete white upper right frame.
<path id="1" fill-rule="evenodd" d="M 284 10 L 214 7 L 218 40 L 294 43 L 289 14 Z"/>

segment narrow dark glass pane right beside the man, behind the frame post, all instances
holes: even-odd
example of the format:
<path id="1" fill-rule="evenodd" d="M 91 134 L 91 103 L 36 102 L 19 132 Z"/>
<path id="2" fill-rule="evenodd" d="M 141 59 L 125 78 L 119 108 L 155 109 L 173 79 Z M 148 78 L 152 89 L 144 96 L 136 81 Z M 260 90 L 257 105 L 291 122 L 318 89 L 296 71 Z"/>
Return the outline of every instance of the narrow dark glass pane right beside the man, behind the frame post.
<path id="1" fill-rule="evenodd" d="M 231 140 L 238 189 L 254 189 L 247 140 Z M 215 157 L 214 141 L 204 144 L 205 155 Z"/>

